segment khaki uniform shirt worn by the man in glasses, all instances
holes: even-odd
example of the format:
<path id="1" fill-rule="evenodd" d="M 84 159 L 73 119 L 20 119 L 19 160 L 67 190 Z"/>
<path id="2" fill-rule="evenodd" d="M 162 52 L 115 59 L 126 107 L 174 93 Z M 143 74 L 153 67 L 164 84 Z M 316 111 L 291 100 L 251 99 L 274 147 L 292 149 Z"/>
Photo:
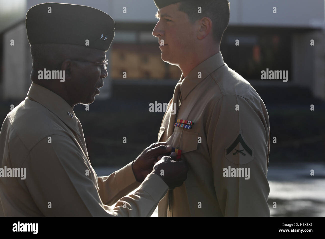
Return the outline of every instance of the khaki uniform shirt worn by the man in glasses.
<path id="1" fill-rule="evenodd" d="M 0 216 L 150 216 L 168 190 L 153 173 L 137 182 L 131 163 L 97 177 L 73 109 L 35 83 L 3 122 L 0 155 L 2 168 L 26 168 L 0 177 Z"/>

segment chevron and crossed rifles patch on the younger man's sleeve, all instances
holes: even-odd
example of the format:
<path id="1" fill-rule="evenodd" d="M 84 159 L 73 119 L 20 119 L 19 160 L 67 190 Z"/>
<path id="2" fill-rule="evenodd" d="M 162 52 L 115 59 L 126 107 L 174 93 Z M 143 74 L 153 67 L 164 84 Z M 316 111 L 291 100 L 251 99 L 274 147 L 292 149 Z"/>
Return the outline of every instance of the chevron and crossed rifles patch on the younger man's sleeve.
<path id="1" fill-rule="evenodd" d="M 254 159 L 254 150 L 242 136 L 241 130 L 232 143 L 225 148 L 225 157 L 237 165 L 247 164 Z"/>

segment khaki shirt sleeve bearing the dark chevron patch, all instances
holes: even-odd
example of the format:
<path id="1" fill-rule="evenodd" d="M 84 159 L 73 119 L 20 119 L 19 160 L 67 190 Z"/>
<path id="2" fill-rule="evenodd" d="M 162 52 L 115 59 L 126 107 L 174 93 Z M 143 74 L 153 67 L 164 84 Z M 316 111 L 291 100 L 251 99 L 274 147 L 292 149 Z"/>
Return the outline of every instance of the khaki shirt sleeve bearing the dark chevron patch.
<path id="1" fill-rule="evenodd" d="M 269 119 L 261 99 L 226 95 L 212 107 L 207 143 L 224 216 L 270 216 Z"/>

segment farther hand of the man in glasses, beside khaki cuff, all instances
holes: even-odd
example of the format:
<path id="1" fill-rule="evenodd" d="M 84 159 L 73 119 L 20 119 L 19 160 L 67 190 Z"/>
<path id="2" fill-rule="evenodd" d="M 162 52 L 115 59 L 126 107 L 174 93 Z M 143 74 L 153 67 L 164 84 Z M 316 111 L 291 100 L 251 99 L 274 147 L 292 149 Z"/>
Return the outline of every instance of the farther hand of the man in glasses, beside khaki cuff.
<path id="1" fill-rule="evenodd" d="M 169 154 L 172 146 L 167 146 L 166 142 L 153 143 L 146 148 L 134 161 L 132 165 L 136 181 L 143 182 L 149 173 L 151 173 L 154 164 L 159 160 L 158 156 Z"/>

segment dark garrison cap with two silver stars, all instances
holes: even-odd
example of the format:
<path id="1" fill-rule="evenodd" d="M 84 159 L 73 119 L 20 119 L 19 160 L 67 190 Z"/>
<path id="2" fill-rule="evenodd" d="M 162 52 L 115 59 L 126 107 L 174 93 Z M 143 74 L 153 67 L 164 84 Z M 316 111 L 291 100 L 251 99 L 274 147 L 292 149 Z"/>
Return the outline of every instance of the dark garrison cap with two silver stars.
<path id="1" fill-rule="evenodd" d="M 65 3 L 42 3 L 26 14 L 30 44 L 61 43 L 108 51 L 114 37 L 115 22 L 93 7 Z"/>

